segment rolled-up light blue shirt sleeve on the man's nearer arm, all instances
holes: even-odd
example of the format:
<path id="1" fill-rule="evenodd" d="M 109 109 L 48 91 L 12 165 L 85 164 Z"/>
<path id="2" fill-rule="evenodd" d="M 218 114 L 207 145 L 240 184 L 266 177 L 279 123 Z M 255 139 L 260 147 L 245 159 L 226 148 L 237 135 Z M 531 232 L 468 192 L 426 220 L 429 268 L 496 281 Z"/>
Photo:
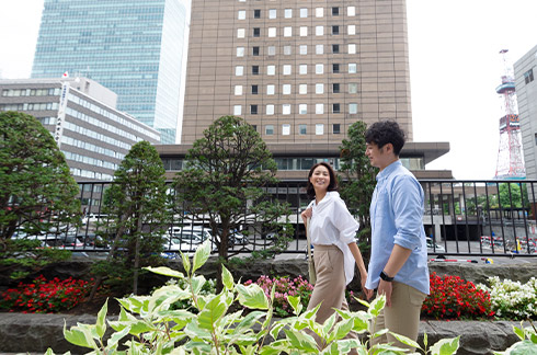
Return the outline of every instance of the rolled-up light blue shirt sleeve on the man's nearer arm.
<path id="1" fill-rule="evenodd" d="M 423 190 L 410 175 L 400 175 L 393 180 L 393 215 L 397 233 L 393 243 L 414 250 L 422 244 L 423 229 Z"/>

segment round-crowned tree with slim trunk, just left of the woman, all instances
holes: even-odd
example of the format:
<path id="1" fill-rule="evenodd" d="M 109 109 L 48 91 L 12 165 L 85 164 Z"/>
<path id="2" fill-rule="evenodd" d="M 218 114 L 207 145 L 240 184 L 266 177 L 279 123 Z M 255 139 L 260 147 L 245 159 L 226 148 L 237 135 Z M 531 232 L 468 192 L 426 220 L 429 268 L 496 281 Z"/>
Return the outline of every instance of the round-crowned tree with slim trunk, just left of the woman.
<path id="1" fill-rule="evenodd" d="M 293 233 L 286 218 L 290 210 L 277 201 L 270 201 L 262 188 L 277 182 L 276 162 L 245 121 L 235 116 L 215 121 L 204 137 L 194 142 L 186 162 L 187 168 L 174 179 L 174 205 L 186 206 L 194 219 L 207 216 L 222 260 L 228 257 L 230 231 L 241 225 L 259 226 L 264 232 L 278 228 L 278 241 Z M 219 289 L 220 274 L 221 264 L 217 273 Z"/>

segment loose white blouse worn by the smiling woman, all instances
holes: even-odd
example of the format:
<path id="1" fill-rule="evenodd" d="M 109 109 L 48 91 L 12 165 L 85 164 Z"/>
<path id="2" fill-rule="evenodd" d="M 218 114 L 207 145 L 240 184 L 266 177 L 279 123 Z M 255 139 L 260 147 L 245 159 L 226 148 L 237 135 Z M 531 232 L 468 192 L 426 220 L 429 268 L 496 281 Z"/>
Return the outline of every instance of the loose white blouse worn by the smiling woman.
<path id="1" fill-rule="evenodd" d="M 359 224 L 354 219 L 345 202 L 336 191 L 330 191 L 319 204 L 313 199 L 308 208 L 312 207 L 309 226 L 311 243 L 320 245 L 336 245 L 343 252 L 345 279 L 349 285 L 354 277 L 355 260 L 349 243 L 355 242 L 354 237 Z"/>

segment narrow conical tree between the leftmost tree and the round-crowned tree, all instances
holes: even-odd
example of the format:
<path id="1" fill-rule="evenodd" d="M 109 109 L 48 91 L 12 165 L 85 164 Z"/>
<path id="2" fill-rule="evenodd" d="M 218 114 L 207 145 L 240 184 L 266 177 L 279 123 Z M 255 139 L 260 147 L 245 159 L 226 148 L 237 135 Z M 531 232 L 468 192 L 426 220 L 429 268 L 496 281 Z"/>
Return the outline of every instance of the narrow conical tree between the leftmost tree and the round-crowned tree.
<path id="1" fill-rule="evenodd" d="M 138 275 L 144 266 L 160 263 L 164 242 L 162 236 L 169 222 L 168 195 L 164 167 L 159 153 L 148 141 L 130 148 L 114 174 L 114 182 L 106 190 L 103 213 L 106 221 L 106 239 L 112 240 L 106 261 L 96 263 L 93 271 L 98 282 L 117 282 L 122 287 L 133 283 L 133 293 L 138 291 Z M 122 254 L 116 256 L 119 250 Z"/>

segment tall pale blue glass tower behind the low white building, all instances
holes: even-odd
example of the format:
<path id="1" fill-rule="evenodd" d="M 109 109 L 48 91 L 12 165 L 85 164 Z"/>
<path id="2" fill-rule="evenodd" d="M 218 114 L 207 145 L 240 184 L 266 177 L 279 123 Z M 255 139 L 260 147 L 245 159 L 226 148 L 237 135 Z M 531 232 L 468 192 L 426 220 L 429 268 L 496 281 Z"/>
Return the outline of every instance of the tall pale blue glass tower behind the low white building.
<path id="1" fill-rule="evenodd" d="M 185 30 L 181 0 L 45 0 L 32 78 L 91 78 L 174 144 Z"/>

